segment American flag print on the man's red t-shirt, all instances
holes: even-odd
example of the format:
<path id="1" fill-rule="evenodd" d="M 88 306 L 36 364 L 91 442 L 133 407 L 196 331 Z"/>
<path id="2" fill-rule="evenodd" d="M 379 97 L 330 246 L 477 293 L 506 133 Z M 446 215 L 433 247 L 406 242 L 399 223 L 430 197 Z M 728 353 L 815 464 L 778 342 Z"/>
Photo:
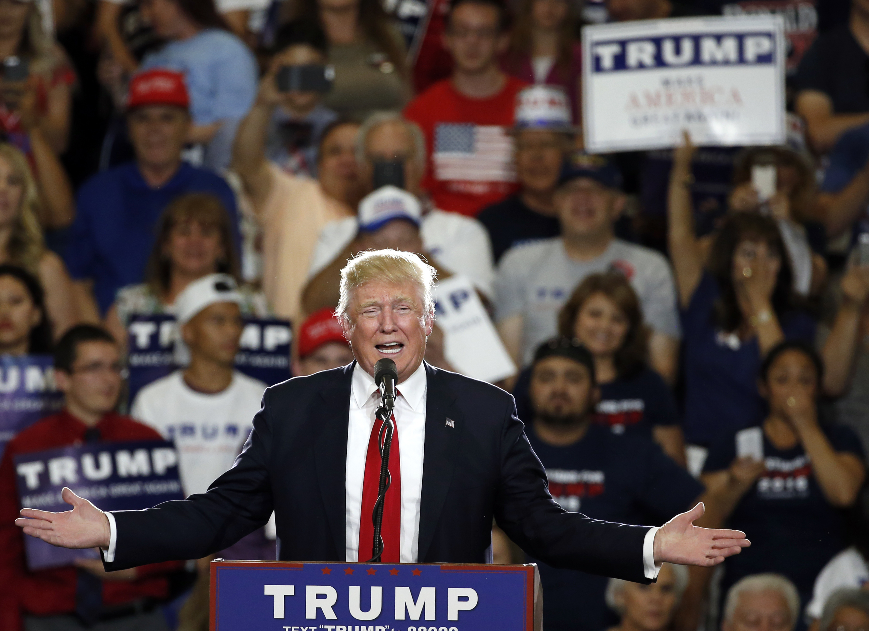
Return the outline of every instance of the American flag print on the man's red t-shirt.
<path id="1" fill-rule="evenodd" d="M 433 163 L 435 180 L 516 181 L 513 138 L 501 125 L 438 123 Z"/>

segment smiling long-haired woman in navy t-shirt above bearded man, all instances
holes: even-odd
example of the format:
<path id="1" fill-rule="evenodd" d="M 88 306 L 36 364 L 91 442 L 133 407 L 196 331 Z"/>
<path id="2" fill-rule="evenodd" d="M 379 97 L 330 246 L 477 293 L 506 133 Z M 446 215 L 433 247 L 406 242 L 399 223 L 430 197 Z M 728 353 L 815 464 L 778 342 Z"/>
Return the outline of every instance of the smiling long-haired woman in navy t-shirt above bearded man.
<path id="1" fill-rule="evenodd" d="M 685 466 L 685 440 L 673 393 L 648 366 L 648 329 L 631 283 L 618 273 L 592 274 L 561 308 L 558 332 L 594 357 L 600 387 L 594 420 L 614 433 L 647 435 Z"/>

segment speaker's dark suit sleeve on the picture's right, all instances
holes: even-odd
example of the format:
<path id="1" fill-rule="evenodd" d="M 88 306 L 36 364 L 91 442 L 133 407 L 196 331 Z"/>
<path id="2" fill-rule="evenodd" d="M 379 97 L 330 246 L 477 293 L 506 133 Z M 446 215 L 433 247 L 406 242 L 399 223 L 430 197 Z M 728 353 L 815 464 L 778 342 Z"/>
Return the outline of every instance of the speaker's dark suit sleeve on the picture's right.
<path id="1" fill-rule="evenodd" d="M 568 513 L 549 495 L 546 471 L 511 403 L 501 433 L 501 481 L 495 521 L 528 555 L 554 568 L 640 583 L 647 526 Z"/>

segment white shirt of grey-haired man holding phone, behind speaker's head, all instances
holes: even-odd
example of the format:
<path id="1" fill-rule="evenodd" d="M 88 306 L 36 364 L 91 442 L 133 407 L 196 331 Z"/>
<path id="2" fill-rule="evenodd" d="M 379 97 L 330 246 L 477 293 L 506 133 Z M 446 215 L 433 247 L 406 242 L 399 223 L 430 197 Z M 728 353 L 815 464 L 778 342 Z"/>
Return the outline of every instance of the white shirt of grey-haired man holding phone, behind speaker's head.
<path id="1" fill-rule="evenodd" d="M 311 255 L 308 279 L 341 254 L 353 241 L 359 224 L 355 217 L 327 223 Z M 439 265 L 453 274 L 468 276 L 474 287 L 489 298 L 494 296 L 494 265 L 492 243 L 482 223 L 472 217 L 434 209 L 422 216 L 420 226 L 422 246 Z"/>

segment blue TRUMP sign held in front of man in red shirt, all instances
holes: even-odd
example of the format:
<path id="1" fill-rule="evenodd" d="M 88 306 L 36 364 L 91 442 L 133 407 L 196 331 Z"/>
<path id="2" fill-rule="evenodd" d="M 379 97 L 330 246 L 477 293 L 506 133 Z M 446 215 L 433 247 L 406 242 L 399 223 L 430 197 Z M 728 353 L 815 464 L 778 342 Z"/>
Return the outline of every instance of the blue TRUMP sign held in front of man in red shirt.
<path id="1" fill-rule="evenodd" d="M 70 510 L 61 499 L 69 487 L 102 510 L 138 510 L 182 500 L 175 445 L 165 441 L 92 442 L 15 456 L 21 508 Z M 95 550 L 68 550 L 24 537 L 30 570 L 98 558 Z"/>

